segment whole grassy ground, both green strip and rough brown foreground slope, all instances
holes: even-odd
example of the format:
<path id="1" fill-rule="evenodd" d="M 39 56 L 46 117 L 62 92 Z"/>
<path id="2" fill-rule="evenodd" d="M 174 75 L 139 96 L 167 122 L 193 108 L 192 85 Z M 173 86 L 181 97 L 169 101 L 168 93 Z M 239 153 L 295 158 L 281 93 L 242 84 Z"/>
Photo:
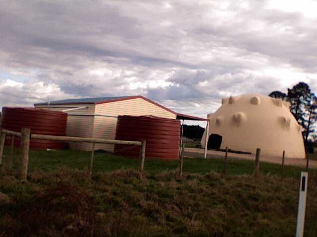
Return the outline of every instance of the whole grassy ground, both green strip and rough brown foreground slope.
<path id="1" fill-rule="evenodd" d="M 177 161 L 147 160 L 147 174 L 140 178 L 134 169 L 137 160 L 96 153 L 94 174 L 89 178 L 85 169 L 89 158 L 88 152 L 31 151 L 28 182 L 2 176 L 0 190 L 11 202 L 0 206 L 0 236 L 4 230 L 8 236 L 24 235 L 26 222 L 18 213 L 29 206 L 38 191 L 61 182 L 79 187 L 92 197 L 96 237 L 294 236 L 301 168 L 287 166 L 287 178 L 282 179 L 279 165 L 262 162 L 263 174 L 254 177 L 250 175 L 252 161 L 230 160 L 229 175 L 223 177 L 216 173 L 222 169 L 221 159 L 185 159 L 185 175 L 179 178 L 175 173 Z M 67 168 L 61 168 L 63 165 Z M 103 172 L 114 169 L 119 170 Z M 305 236 L 315 237 L 315 170 L 310 172 L 308 186 Z M 71 235 L 87 234 L 85 224 L 65 228 L 60 225 L 61 218 L 66 217 L 56 215 L 56 220 L 50 219 L 45 226 L 34 218 L 37 225 L 33 234 L 63 236 L 69 229 Z M 59 225 L 54 224 L 57 219 Z"/>

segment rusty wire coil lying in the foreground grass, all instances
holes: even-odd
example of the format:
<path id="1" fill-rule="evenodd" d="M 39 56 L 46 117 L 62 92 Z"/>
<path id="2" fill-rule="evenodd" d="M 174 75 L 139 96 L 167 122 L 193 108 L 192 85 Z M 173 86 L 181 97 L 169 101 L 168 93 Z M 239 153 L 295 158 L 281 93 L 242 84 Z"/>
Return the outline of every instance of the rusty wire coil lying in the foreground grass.
<path id="1" fill-rule="evenodd" d="M 20 233 L 37 236 L 52 229 L 63 236 L 91 236 L 96 212 L 89 195 L 61 185 L 39 192 L 21 211 Z"/>

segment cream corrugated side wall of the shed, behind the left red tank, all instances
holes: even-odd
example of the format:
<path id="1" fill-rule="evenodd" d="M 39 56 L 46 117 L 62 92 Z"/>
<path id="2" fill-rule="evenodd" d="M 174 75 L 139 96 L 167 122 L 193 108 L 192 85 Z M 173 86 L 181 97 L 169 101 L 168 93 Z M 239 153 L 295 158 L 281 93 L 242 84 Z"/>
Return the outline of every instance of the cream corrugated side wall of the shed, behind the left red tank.
<path id="1" fill-rule="evenodd" d="M 94 116 L 72 116 L 78 114 L 87 114 L 93 115 L 95 114 L 95 105 L 51 105 L 50 110 L 53 111 L 62 111 L 65 109 L 71 109 L 76 107 L 87 106 L 88 108 L 69 111 L 67 118 L 67 129 L 66 135 L 72 137 L 93 137 L 93 126 L 94 126 Z M 35 106 L 36 108 L 48 109 L 48 106 Z M 70 148 L 74 150 L 91 150 L 91 143 L 83 143 L 83 142 L 70 142 Z"/>

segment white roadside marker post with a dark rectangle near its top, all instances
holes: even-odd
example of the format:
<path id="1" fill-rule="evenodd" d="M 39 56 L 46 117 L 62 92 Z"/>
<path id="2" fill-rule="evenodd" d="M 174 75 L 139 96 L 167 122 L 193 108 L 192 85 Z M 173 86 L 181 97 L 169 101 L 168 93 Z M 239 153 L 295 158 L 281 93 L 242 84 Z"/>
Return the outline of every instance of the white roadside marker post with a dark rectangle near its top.
<path id="1" fill-rule="evenodd" d="M 296 237 L 304 236 L 305 210 L 306 210 L 306 196 L 307 196 L 307 181 L 308 173 L 302 172 L 301 186 L 299 189 L 299 202 L 297 214 Z"/>

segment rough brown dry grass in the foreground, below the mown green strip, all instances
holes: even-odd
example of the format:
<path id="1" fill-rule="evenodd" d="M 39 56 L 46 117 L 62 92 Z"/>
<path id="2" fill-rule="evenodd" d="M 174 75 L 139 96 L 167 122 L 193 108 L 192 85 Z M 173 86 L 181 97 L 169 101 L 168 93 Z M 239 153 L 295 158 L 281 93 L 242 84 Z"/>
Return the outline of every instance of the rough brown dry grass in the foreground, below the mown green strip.
<path id="1" fill-rule="evenodd" d="M 13 176 L 1 177 L 0 190 L 11 202 L 0 205 L 0 236 L 19 236 L 26 222 L 18 213 L 27 205 L 32 209 L 39 192 L 58 187 L 61 182 L 82 190 L 94 202 L 94 224 L 87 227 L 79 221 L 75 227 L 71 225 L 77 228 L 76 235 L 87 234 L 87 228 L 93 229 L 94 237 L 289 237 L 295 233 L 299 180 L 293 178 L 222 177 L 214 172 L 179 178 L 175 171 L 140 176 L 134 169 L 100 172 L 89 178 L 87 170 L 62 168 L 50 173 L 33 172 L 28 179 L 23 184 Z M 308 185 L 305 236 L 315 237 L 316 174 L 310 174 Z M 62 223 L 58 212 L 47 215 L 50 225 L 42 225 L 32 234 L 65 236 L 65 228 L 70 226 L 67 217 L 74 213 L 72 208 L 60 212 L 64 215 Z M 45 223 L 46 215 L 39 213 L 37 217 L 37 213 L 32 213 L 32 219 L 40 217 Z M 9 225 L 14 228 L 8 229 Z"/>

